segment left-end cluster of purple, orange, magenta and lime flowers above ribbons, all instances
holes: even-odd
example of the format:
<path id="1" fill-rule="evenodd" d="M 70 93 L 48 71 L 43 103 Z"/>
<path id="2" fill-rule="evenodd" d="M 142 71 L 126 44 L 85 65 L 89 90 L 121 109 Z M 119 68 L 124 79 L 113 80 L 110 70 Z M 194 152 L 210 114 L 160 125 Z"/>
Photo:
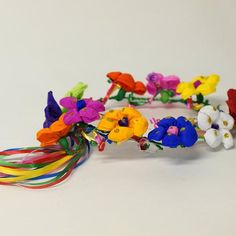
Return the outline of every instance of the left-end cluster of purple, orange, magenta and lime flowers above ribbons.
<path id="1" fill-rule="evenodd" d="M 103 103 L 91 98 L 82 99 L 87 85 L 78 83 L 66 93 L 66 97 L 60 100 L 61 109 L 53 93 L 48 93 L 48 102 L 45 108 L 46 120 L 43 129 L 37 132 L 37 139 L 41 146 L 57 144 L 62 138 L 69 135 L 73 126 L 92 123 L 100 119 L 100 112 L 105 111 Z M 83 124 L 84 123 L 84 124 Z"/>

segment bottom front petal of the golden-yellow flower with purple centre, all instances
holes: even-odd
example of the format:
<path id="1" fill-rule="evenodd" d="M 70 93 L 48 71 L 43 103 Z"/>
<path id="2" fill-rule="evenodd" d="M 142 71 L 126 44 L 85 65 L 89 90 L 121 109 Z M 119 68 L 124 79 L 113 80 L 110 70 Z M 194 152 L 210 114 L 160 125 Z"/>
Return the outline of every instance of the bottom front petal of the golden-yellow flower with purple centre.
<path id="1" fill-rule="evenodd" d="M 132 128 L 117 126 L 109 133 L 108 139 L 113 142 L 123 142 L 130 139 L 133 134 Z"/>

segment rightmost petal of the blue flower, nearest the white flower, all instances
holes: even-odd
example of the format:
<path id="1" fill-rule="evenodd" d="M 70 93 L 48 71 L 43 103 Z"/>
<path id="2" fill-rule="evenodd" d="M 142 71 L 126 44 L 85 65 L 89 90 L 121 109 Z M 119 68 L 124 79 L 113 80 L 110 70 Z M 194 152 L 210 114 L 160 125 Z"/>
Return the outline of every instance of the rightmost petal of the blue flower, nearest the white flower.
<path id="1" fill-rule="evenodd" d="M 185 147 L 192 147 L 198 140 L 197 131 L 192 125 L 181 128 L 179 137 L 181 139 L 181 144 Z"/>

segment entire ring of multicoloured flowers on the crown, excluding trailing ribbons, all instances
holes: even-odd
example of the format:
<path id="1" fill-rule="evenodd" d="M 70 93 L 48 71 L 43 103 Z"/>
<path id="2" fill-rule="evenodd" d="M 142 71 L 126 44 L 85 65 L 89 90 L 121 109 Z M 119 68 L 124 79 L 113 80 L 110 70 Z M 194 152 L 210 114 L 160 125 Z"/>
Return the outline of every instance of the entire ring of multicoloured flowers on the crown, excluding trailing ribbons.
<path id="1" fill-rule="evenodd" d="M 203 96 L 216 90 L 219 76 L 198 76 L 190 82 L 181 82 L 175 75 L 164 76 L 153 72 L 148 74 L 146 86 L 140 81 L 135 81 L 128 73 L 110 72 L 107 77 L 111 87 L 107 95 L 100 100 L 83 98 L 87 88 L 83 83 L 78 83 L 68 91 L 59 104 L 53 93 L 48 93 L 44 128 L 37 133 L 37 139 L 42 146 L 58 144 L 63 138 L 73 136 L 75 130 L 89 142 L 97 144 L 99 150 L 104 149 L 105 142 L 120 143 L 130 139 L 137 141 L 142 150 L 147 149 L 150 143 L 159 149 L 162 149 L 162 146 L 192 147 L 203 138 L 212 148 L 218 147 L 221 143 L 226 149 L 233 146 L 230 130 L 233 129 L 236 120 L 236 90 L 228 91 L 227 104 L 230 114 L 203 101 Z M 194 106 L 197 106 L 195 110 L 200 111 L 196 119 L 187 119 L 183 116 L 165 117 L 160 120 L 153 118 L 155 128 L 145 137 L 148 121 L 134 107 L 128 105 L 122 109 L 105 112 L 104 104 L 112 98 L 110 95 L 117 88 L 119 92 L 113 99 L 120 101 L 126 98 L 126 93 L 130 93 L 129 102 L 137 105 L 141 102 L 144 104 L 143 101 L 146 100 L 142 97 L 135 98 L 133 94 L 143 95 L 146 91 L 152 95 L 152 100 L 158 100 L 156 97 L 160 94 L 160 101 L 163 103 L 181 101 L 188 104 L 189 99 L 195 95 L 198 103 L 196 105 L 192 102 L 191 108 L 195 109 Z M 182 99 L 171 100 L 178 95 Z M 94 121 L 99 121 L 97 126 L 92 125 Z"/>

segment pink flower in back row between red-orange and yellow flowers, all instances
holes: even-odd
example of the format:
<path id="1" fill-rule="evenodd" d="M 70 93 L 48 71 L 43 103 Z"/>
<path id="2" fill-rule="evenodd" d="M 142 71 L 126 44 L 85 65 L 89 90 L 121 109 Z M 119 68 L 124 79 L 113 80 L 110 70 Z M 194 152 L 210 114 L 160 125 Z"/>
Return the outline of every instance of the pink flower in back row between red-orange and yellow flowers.
<path id="1" fill-rule="evenodd" d="M 146 80 L 148 81 L 147 91 L 153 96 L 156 96 L 161 90 L 172 90 L 175 93 L 177 85 L 180 83 L 179 77 L 175 75 L 163 76 L 155 72 L 148 74 Z"/>

